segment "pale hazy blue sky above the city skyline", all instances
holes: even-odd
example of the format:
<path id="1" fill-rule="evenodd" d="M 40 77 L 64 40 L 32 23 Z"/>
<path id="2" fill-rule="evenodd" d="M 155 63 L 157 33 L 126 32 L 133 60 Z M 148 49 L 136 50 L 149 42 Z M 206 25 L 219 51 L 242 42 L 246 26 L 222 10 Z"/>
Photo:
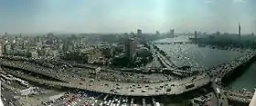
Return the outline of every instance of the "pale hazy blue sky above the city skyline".
<path id="1" fill-rule="evenodd" d="M 256 0 L 0 0 L 0 33 L 256 32 Z"/>

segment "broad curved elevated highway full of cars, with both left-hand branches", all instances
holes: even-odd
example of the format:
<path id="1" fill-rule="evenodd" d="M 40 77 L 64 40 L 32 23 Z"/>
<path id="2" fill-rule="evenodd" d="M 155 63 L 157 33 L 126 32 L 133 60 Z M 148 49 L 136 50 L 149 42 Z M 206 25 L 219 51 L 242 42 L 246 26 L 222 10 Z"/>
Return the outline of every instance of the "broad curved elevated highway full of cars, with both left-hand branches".
<path id="1" fill-rule="evenodd" d="M 5 65 L 8 65 L 9 67 L 12 66 L 13 68 L 29 70 L 30 72 L 37 72 L 38 74 L 44 74 L 52 78 L 55 77 L 63 82 L 51 82 L 48 80 L 35 78 L 29 74 L 20 74 L 21 72 L 9 71 L 9 73 L 16 75 L 17 77 L 27 79 L 28 81 L 45 83 L 53 86 L 58 85 L 94 92 L 104 92 L 129 96 L 176 95 L 198 89 L 201 86 L 207 85 L 210 82 L 210 78 L 206 73 L 174 81 L 157 83 L 131 83 L 110 82 L 103 81 L 101 79 L 91 79 L 87 77 L 81 77 L 80 75 L 72 74 L 70 72 L 61 72 L 60 74 L 55 71 L 41 70 L 41 67 L 35 66 L 33 64 L 28 64 L 29 66 L 27 66 L 27 63 L 5 63 Z M 187 83 L 193 84 L 193 86 L 191 88 L 186 88 Z"/>

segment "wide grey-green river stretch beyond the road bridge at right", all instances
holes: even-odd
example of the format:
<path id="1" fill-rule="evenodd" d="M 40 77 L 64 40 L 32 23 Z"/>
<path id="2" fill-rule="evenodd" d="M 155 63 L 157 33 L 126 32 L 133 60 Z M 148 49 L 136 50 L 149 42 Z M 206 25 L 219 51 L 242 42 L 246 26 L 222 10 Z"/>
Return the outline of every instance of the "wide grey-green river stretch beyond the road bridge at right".
<path id="1" fill-rule="evenodd" d="M 186 41 L 188 41 L 187 36 L 179 36 L 158 40 L 156 42 Z M 199 47 L 197 44 L 157 44 L 157 46 L 170 56 L 170 60 L 175 63 L 176 66 L 190 66 L 192 71 L 202 71 L 215 65 L 226 63 L 243 54 L 240 52 L 212 49 L 208 46 Z"/>

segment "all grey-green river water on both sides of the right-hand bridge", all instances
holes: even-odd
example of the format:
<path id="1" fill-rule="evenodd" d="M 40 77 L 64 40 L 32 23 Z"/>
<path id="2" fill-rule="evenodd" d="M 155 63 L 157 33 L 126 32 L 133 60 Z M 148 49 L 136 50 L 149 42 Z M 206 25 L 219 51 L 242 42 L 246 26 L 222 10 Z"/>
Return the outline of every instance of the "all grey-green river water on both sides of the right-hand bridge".
<path id="1" fill-rule="evenodd" d="M 157 43 L 169 42 L 186 42 L 187 36 L 178 36 L 175 38 L 166 38 L 157 40 Z M 221 63 L 229 62 L 230 60 L 239 57 L 245 53 L 212 49 L 211 47 L 199 47 L 197 44 L 157 44 L 157 46 L 164 50 L 170 60 L 176 66 L 190 66 L 191 71 L 203 71 L 210 67 L 216 66 Z M 256 87 L 256 63 L 252 63 L 251 67 L 243 73 L 240 78 L 232 82 L 229 87 L 235 90 L 242 90 L 246 88 L 250 91 Z"/>

